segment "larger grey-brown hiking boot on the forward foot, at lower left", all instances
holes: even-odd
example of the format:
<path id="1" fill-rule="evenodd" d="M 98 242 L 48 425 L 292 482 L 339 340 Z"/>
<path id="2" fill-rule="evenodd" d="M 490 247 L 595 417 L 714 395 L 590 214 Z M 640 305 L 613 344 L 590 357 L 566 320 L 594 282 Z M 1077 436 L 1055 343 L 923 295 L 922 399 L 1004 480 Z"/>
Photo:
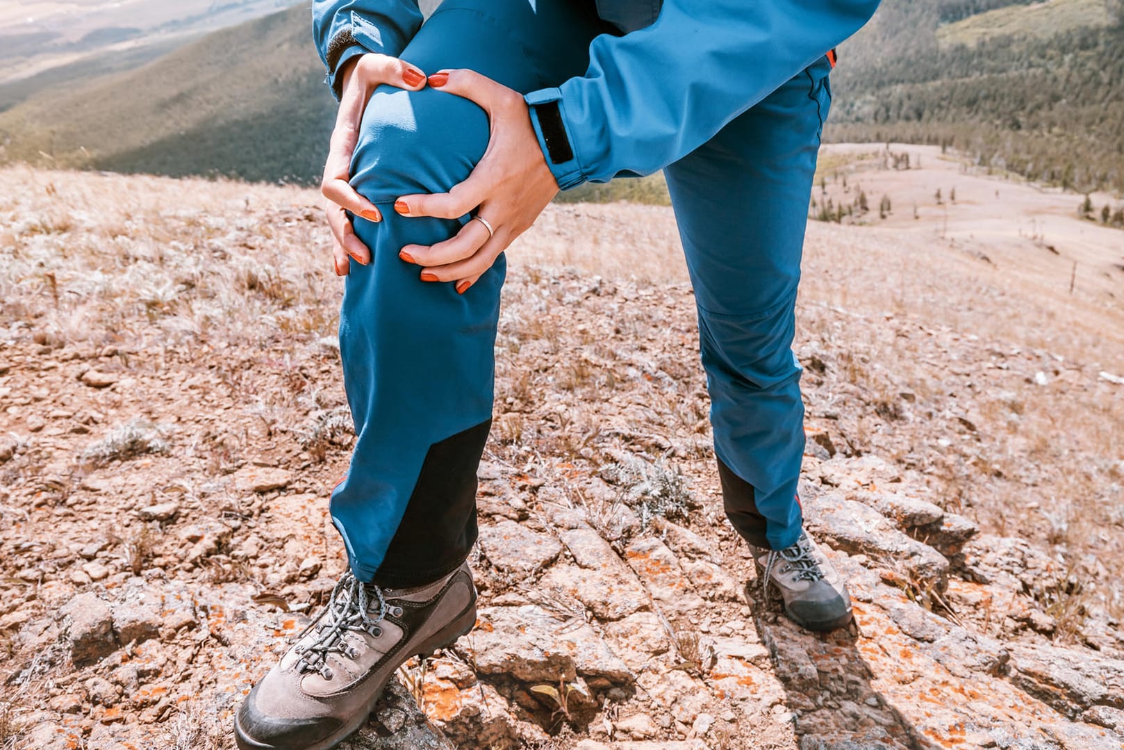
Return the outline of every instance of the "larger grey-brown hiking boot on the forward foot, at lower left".
<path id="1" fill-rule="evenodd" d="M 348 570 L 327 606 L 242 702 L 241 750 L 327 750 L 368 719 L 395 670 L 452 645 L 477 622 L 468 563 L 410 589 L 362 584 Z"/>

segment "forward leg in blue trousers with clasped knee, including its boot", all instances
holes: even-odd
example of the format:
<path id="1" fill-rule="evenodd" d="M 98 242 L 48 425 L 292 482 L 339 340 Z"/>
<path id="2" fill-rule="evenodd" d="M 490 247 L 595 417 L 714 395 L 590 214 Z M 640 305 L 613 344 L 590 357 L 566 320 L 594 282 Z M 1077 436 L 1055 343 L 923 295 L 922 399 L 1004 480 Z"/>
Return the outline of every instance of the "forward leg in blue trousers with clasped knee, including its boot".
<path id="1" fill-rule="evenodd" d="M 472 67 L 522 91 L 556 84 L 587 64 L 595 20 L 579 6 L 446 0 L 402 57 L 427 73 Z M 461 224 L 402 217 L 392 205 L 448 190 L 487 145 L 483 111 L 450 93 L 383 88 L 366 108 L 353 184 L 384 218 L 355 219 L 372 259 L 351 264 L 339 349 L 359 441 L 332 496 L 354 577 L 341 579 L 316 627 L 246 696 L 239 748 L 334 747 L 404 661 L 475 622 L 470 572 L 457 569 L 477 534 L 504 261 L 464 295 L 419 280 L 399 250 L 447 240 Z"/>

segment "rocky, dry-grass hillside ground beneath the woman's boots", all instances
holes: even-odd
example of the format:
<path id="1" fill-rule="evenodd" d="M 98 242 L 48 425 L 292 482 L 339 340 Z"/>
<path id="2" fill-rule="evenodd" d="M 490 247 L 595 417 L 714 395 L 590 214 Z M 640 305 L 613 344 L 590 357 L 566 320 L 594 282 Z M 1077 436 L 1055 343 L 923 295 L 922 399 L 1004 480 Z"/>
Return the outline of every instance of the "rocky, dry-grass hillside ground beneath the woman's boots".
<path id="1" fill-rule="evenodd" d="M 316 196 L 22 170 L 0 196 L 0 748 L 230 748 L 344 564 Z M 345 747 L 1124 747 L 1115 334 L 1082 349 L 1052 307 L 1048 349 L 997 324 L 1041 296 L 981 293 L 962 249 L 813 226 L 801 496 L 856 616 L 816 636 L 723 516 L 670 227 L 555 207 L 513 251 L 479 622 Z M 584 242 L 641 270 L 555 262 Z M 877 297 L 904 264 L 933 293 Z"/>

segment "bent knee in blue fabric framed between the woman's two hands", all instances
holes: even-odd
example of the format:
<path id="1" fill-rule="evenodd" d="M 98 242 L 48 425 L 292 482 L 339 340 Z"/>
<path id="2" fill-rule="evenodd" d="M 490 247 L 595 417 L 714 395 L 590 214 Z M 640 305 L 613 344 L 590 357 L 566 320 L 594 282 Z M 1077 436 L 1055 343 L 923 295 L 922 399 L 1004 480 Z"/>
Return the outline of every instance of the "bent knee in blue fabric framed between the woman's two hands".
<path id="1" fill-rule="evenodd" d="M 429 88 L 380 87 L 363 115 L 351 183 L 374 204 L 444 192 L 487 147 L 488 116 L 472 101 Z"/>

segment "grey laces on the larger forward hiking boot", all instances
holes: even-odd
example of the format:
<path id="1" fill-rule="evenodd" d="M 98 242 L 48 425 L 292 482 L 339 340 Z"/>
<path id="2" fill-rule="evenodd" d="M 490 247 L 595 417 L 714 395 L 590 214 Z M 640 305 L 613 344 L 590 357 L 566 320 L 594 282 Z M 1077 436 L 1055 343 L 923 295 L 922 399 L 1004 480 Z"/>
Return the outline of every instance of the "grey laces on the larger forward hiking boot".
<path id="1" fill-rule="evenodd" d="M 374 608 L 372 604 L 378 604 L 379 613 L 374 617 L 369 614 Z M 362 582 L 348 570 L 332 589 L 332 596 L 320 614 L 298 636 L 298 640 L 303 638 L 310 630 L 317 633 L 315 641 L 297 647 L 297 653 L 301 657 L 297 662 L 297 670 L 300 674 L 316 671 L 324 679 L 332 679 L 328 656 L 335 652 L 354 659 L 357 652 L 347 642 L 347 632 L 379 638 L 382 634 L 379 623 L 387 616 L 387 611 L 382 589 Z"/>

